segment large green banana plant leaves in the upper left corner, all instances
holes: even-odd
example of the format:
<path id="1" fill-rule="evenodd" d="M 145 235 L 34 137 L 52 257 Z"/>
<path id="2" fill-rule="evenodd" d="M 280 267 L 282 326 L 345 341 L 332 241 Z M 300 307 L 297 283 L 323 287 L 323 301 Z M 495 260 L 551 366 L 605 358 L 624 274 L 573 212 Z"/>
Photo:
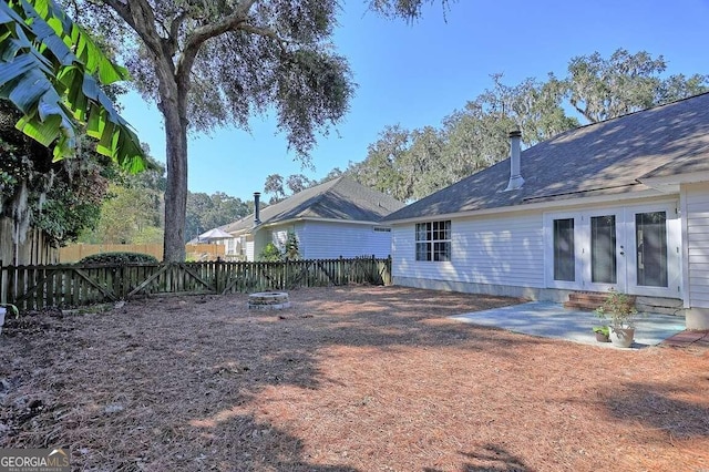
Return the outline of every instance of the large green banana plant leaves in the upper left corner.
<path id="1" fill-rule="evenodd" d="M 17 127 L 54 158 L 76 152 L 76 134 L 97 140 L 96 151 L 133 172 L 147 166 L 140 141 L 99 86 L 127 79 L 52 0 L 0 2 L 0 98 L 24 116 Z"/>

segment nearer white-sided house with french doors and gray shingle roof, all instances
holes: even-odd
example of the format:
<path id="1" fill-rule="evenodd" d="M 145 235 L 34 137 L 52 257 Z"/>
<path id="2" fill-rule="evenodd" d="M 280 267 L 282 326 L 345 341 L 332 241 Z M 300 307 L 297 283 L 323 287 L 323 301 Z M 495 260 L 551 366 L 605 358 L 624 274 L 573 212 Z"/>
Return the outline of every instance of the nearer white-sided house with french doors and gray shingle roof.
<path id="1" fill-rule="evenodd" d="M 709 328 L 709 94 L 582 126 L 383 218 L 397 285 L 610 288 Z"/>

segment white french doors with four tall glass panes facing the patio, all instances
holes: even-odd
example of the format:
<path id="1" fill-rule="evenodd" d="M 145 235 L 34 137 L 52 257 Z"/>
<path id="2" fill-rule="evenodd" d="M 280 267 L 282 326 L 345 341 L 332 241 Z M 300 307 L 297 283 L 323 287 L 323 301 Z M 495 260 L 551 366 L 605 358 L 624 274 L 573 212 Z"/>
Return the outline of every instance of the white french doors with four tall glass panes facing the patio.
<path id="1" fill-rule="evenodd" d="M 680 237 L 674 208 L 545 215 L 547 286 L 678 296 Z"/>

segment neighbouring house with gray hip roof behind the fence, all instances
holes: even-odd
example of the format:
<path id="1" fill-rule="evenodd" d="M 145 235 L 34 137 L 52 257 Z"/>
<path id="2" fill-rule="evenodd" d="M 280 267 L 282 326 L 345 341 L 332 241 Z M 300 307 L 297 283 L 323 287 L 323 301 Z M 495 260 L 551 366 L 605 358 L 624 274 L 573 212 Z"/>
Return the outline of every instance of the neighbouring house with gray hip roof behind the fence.
<path id="1" fill-rule="evenodd" d="M 268 243 L 282 252 L 290 233 L 302 259 L 389 257 L 391 228 L 379 220 L 404 206 L 346 176 L 265 208 L 254 197 L 254 214 L 222 227 L 234 236 L 226 240 L 228 258 L 256 260 Z"/>

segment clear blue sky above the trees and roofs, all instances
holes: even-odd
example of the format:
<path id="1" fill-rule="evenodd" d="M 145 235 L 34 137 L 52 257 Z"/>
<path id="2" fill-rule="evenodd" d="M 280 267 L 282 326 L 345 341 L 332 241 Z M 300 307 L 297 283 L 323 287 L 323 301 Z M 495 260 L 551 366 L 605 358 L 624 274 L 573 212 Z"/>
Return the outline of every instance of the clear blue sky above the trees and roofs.
<path id="1" fill-rule="evenodd" d="M 709 0 L 459 0 L 443 16 L 425 8 L 414 24 L 381 19 L 364 0 L 347 0 L 335 35 L 358 84 L 343 122 L 319 136 L 315 171 L 288 153 L 284 134 L 269 116 L 254 116 L 251 132 L 233 127 L 189 137 L 191 192 L 224 192 L 247 199 L 263 192 L 269 174 L 302 173 L 321 178 L 333 167 L 367 156 L 387 125 L 439 126 L 465 102 L 492 86 L 525 78 L 564 76 L 571 58 L 618 48 L 662 54 L 667 73 L 709 74 Z M 153 104 L 132 93 L 123 116 L 153 156 L 165 161 L 162 119 Z"/>

